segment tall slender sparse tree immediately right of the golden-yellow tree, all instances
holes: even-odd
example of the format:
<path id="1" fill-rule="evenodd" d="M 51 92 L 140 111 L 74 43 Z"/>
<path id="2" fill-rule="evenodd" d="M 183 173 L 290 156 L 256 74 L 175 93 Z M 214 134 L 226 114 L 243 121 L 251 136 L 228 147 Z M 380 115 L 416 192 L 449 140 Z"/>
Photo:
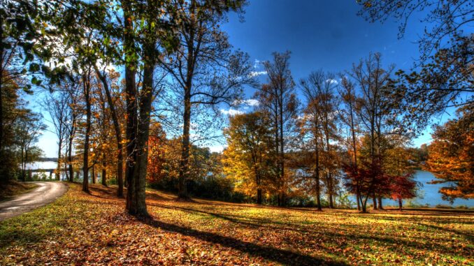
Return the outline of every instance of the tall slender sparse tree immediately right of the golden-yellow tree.
<path id="1" fill-rule="evenodd" d="M 259 87 L 256 96 L 259 110 L 269 119 L 273 133 L 276 156 L 275 179 L 278 182 L 278 205 L 285 205 L 285 146 L 293 135 L 298 100 L 294 93 L 294 81 L 289 70 L 289 52 L 273 53 L 273 62 L 264 62 L 268 84 Z"/>

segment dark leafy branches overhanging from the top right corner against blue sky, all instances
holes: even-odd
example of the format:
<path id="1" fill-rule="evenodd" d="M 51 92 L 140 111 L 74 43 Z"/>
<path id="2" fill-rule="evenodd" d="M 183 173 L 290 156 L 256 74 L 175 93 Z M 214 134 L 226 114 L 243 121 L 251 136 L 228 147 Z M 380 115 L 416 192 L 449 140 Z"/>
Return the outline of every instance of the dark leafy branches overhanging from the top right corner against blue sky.
<path id="1" fill-rule="evenodd" d="M 398 71 L 397 90 L 407 100 L 406 119 L 417 119 L 424 128 L 433 114 L 450 106 L 474 102 L 473 40 L 474 9 L 468 0 L 359 1 L 362 15 L 371 22 L 394 17 L 401 21 L 399 38 L 415 13 L 426 23 L 419 39 L 420 60 L 412 73 Z"/>

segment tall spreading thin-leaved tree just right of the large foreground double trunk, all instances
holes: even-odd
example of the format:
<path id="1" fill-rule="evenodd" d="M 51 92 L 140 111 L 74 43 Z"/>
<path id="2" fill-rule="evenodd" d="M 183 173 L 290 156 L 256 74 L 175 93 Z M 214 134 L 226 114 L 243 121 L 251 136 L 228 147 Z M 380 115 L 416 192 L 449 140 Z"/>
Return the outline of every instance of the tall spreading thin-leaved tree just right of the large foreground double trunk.
<path id="1" fill-rule="evenodd" d="M 161 66 L 173 77 L 175 99 L 182 110 L 178 198 L 188 198 L 185 182 L 189 178 L 192 107 L 231 105 L 240 98 L 242 85 L 254 82 L 247 54 L 234 52 L 219 26 L 227 13 L 240 12 L 245 3 L 245 0 L 172 1 L 180 18 L 178 49 L 168 60 L 161 60 Z"/>

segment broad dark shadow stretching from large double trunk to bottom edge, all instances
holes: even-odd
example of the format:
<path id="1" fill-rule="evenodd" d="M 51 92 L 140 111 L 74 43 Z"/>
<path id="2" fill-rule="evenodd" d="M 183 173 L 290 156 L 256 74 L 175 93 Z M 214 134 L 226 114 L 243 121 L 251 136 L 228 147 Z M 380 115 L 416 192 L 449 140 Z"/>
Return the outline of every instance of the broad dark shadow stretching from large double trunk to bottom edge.
<path id="1" fill-rule="evenodd" d="M 275 249 L 271 246 L 260 246 L 251 242 L 241 241 L 232 237 L 217 235 L 213 232 L 203 232 L 192 228 L 176 226 L 171 223 L 164 223 L 155 219 L 144 220 L 143 223 L 154 228 L 160 228 L 168 232 L 176 232 L 180 235 L 194 237 L 213 244 L 220 244 L 231 249 L 236 249 L 250 254 L 251 256 L 259 256 L 266 260 L 271 260 L 283 265 L 347 265 L 343 262 L 331 260 L 329 258 L 315 258 L 313 256 L 303 255 L 293 251 Z"/>

